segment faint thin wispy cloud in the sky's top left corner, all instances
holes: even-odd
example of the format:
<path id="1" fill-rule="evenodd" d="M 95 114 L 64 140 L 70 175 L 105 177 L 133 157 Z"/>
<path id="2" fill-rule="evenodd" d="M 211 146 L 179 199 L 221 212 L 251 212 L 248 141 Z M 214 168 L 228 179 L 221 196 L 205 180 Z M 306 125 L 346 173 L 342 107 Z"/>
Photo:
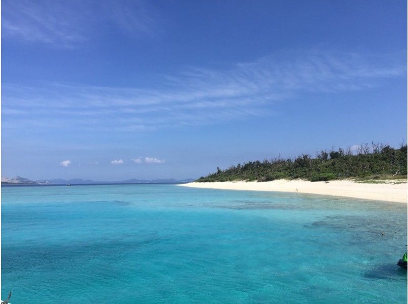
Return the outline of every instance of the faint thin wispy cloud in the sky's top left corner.
<path id="1" fill-rule="evenodd" d="M 157 13 L 139 1 L 28 1 L 2 2 L 2 31 L 6 39 L 72 48 L 107 25 L 132 36 L 159 32 Z M 101 38 L 102 36 L 100 36 Z"/>

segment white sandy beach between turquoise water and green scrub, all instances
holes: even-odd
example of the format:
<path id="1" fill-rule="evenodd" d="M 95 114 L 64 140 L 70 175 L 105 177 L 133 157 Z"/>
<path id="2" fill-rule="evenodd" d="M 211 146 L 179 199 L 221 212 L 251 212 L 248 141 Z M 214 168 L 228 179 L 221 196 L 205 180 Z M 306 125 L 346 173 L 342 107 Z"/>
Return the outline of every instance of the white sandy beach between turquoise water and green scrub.
<path id="1" fill-rule="evenodd" d="M 224 190 L 278 191 L 320 195 L 343 196 L 369 200 L 407 202 L 407 184 L 364 184 L 352 180 L 311 182 L 307 180 L 279 179 L 258 183 L 257 181 L 223 181 L 214 183 L 188 183 L 179 186 Z"/>

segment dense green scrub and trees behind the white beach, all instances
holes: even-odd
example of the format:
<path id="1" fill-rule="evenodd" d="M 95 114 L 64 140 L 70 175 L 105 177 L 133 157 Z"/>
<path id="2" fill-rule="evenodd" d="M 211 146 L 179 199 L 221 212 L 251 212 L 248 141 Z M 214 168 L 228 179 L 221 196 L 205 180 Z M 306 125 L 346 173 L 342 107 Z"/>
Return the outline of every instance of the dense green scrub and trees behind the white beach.
<path id="1" fill-rule="evenodd" d="M 216 173 L 200 177 L 196 181 L 228 181 L 302 178 L 311 181 L 357 178 L 368 183 L 384 179 L 406 178 L 407 146 L 399 149 L 389 145 L 372 143 L 358 147 L 357 155 L 351 148 L 344 151 L 321 151 L 316 158 L 301 155 L 296 159 L 277 158 L 273 160 L 254 161 L 231 166 L 226 170 L 217 168 Z"/>

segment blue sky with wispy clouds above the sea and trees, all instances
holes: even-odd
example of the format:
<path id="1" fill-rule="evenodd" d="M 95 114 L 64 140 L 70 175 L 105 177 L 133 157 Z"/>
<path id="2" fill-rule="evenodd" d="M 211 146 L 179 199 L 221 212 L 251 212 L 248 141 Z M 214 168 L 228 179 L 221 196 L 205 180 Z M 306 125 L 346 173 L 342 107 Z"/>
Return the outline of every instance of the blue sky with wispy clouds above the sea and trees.
<path id="1" fill-rule="evenodd" d="M 406 34 L 404 1 L 2 1 L 2 176 L 399 146 Z"/>

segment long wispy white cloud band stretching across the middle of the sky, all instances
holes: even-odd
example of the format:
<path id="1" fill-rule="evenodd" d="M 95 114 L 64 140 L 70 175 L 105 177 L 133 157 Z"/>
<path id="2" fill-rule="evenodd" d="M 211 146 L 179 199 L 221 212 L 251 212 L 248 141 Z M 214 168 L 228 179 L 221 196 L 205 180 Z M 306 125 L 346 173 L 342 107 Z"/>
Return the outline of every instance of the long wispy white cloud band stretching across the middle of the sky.
<path id="1" fill-rule="evenodd" d="M 276 53 L 225 70 L 184 70 L 162 78 L 156 89 L 6 83 L 3 127 L 136 132 L 245 120 L 273 115 L 276 102 L 304 93 L 367 90 L 403 77 L 399 59 L 329 51 Z"/>

